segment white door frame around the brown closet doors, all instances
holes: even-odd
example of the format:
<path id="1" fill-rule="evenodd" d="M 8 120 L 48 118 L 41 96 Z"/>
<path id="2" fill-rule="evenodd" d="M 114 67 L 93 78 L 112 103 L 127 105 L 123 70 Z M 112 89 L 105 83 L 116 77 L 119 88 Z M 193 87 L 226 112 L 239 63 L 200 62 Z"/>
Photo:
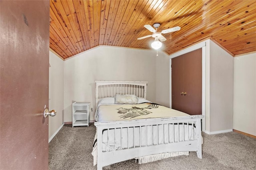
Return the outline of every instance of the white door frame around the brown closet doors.
<path id="1" fill-rule="evenodd" d="M 180 55 L 202 48 L 202 131 L 205 132 L 205 113 L 206 113 L 206 42 L 201 42 L 182 51 L 178 51 L 169 56 L 170 61 L 170 108 L 172 108 L 172 59 Z"/>

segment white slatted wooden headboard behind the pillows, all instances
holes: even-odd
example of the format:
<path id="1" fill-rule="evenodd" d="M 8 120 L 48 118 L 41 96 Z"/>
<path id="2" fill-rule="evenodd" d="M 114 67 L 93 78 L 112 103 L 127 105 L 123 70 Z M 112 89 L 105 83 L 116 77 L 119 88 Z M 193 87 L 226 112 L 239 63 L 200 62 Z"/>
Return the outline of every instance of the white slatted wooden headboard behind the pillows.
<path id="1" fill-rule="evenodd" d="M 96 106 L 101 98 L 115 97 L 116 94 L 134 94 L 146 99 L 147 82 L 95 81 Z"/>

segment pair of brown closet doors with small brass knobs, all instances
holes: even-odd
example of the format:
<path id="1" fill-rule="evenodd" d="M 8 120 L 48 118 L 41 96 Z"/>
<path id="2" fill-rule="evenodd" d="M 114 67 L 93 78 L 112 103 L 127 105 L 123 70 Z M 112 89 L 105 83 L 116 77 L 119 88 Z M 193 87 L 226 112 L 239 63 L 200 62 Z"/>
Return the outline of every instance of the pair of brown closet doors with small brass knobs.
<path id="1" fill-rule="evenodd" d="M 172 108 L 202 114 L 202 49 L 172 59 Z"/>

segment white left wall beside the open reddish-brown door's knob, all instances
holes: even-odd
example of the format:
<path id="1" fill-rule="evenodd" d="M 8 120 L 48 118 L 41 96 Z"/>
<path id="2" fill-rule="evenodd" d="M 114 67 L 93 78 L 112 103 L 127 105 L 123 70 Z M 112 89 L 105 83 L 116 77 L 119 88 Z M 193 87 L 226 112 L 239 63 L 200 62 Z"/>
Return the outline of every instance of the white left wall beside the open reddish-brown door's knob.
<path id="1" fill-rule="evenodd" d="M 50 51 L 49 62 L 49 109 L 57 111 L 54 117 L 49 116 L 48 134 L 51 140 L 64 122 L 64 61 Z"/>

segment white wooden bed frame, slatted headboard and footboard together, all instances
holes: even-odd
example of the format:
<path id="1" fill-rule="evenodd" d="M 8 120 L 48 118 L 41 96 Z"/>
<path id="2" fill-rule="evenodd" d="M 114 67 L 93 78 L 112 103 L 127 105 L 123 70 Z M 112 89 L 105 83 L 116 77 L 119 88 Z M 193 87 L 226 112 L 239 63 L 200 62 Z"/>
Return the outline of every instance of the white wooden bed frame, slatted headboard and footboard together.
<path id="1" fill-rule="evenodd" d="M 140 98 L 146 99 L 146 86 L 147 82 L 126 82 L 126 81 L 95 81 L 96 82 L 96 106 L 101 98 L 114 97 L 116 94 L 135 94 Z M 198 158 L 202 158 L 202 135 L 201 135 L 201 119 L 204 115 L 192 115 L 182 117 L 168 117 L 168 118 L 150 118 L 150 119 L 136 119 L 128 121 L 110 121 L 110 122 L 95 122 L 97 127 L 97 169 L 101 170 L 103 166 L 122 162 L 124 160 L 130 160 L 132 158 L 138 158 L 141 156 L 147 156 L 152 154 L 166 153 L 166 152 L 183 152 L 183 151 L 196 151 Z M 183 128 L 178 126 L 178 134 L 183 134 L 183 140 L 178 142 L 163 142 L 157 145 L 149 146 L 133 146 L 128 148 L 122 148 L 120 150 L 102 151 L 102 133 L 105 130 L 120 128 L 133 128 L 157 126 L 164 127 L 164 125 L 172 125 L 174 123 L 183 125 Z M 196 126 L 196 135 L 193 135 L 193 139 L 185 140 L 184 133 L 186 128 L 184 124 L 192 124 Z M 159 126 L 162 125 L 162 126 Z M 164 133 L 164 129 L 162 130 Z M 181 131 L 181 132 L 180 132 Z M 141 132 L 141 131 L 140 131 Z M 168 130 L 169 134 L 169 130 Z M 193 133 L 194 134 L 194 133 Z M 157 134 L 158 135 L 158 134 Z M 122 136 L 122 133 L 121 133 Z M 141 136 L 141 135 L 140 135 Z M 135 136 L 133 137 L 133 139 Z M 139 137 L 141 138 L 141 137 Z M 152 135 L 153 138 L 153 135 Z M 170 137 L 168 137 L 170 139 Z M 116 139 L 114 139 L 116 140 Z M 135 139 L 134 139 L 135 140 Z M 141 141 L 141 139 L 139 139 Z M 116 147 L 115 147 L 116 148 Z"/>

